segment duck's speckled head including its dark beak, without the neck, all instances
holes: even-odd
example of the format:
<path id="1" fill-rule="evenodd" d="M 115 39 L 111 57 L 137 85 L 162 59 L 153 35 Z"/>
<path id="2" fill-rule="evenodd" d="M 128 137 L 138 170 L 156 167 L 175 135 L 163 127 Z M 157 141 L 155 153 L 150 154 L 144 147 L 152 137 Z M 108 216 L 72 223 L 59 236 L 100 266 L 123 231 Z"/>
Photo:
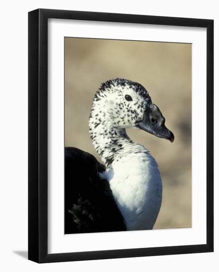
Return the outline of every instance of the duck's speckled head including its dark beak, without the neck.
<path id="1" fill-rule="evenodd" d="M 113 79 L 103 83 L 95 94 L 91 117 L 90 128 L 100 124 L 102 130 L 103 125 L 113 129 L 138 128 L 171 142 L 174 140 L 148 91 L 130 80 Z"/>

